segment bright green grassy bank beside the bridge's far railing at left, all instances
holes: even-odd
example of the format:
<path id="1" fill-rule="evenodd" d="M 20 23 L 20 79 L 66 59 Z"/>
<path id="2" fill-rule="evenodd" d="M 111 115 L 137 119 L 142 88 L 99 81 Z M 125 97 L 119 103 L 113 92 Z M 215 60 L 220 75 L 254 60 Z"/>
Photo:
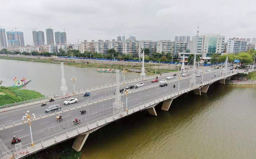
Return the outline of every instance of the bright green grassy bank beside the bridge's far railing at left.
<path id="1" fill-rule="evenodd" d="M 39 97 L 44 97 L 44 95 L 36 91 L 20 89 L 18 87 L 0 87 L 0 106 Z"/>

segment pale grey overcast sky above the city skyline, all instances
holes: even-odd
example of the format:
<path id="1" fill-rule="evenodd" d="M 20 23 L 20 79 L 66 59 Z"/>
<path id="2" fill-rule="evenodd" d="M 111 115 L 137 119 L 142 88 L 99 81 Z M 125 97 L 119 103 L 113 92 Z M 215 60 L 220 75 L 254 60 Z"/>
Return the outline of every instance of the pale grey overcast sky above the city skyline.
<path id="1" fill-rule="evenodd" d="M 174 40 L 174 36 L 217 33 L 228 38 L 256 37 L 255 0 L 1 0 L 0 26 L 67 33 L 67 42 L 112 40 L 125 34 L 137 40 Z"/>

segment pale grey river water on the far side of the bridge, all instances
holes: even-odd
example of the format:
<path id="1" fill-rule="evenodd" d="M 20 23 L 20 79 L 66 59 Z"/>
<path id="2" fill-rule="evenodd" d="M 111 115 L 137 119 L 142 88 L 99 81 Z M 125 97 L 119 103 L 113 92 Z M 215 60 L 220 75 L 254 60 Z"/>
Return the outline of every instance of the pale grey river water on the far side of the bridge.
<path id="1" fill-rule="evenodd" d="M 75 90 L 93 87 L 95 85 L 114 83 L 115 73 L 97 72 L 98 68 L 81 68 L 76 66 L 64 65 L 66 85 L 68 91 L 73 91 L 72 76 L 76 77 Z M 3 86 L 14 84 L 13 78 L 23 77 L 30 79 L 22 89 L 31 89 L 44 95 L 54 95 L 60 93 L 61 86 L 61 65 L 39 62 L 26 62 L 16 60 L 0 59 L 0 80 Z M 139 73 L 126 72 L 125 80 L 139 78 Z M 123 81 L 123 72 L 120 72 L 120 81 Z"/>

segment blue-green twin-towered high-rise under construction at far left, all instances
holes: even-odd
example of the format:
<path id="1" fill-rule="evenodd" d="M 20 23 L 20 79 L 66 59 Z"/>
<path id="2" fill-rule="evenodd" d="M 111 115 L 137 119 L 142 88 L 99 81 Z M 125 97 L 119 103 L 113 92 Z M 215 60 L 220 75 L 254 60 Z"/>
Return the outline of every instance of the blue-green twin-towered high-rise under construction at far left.
<path id="1" fill-rule="evenodd" d="M 7 41 L 8 41 L 8 46 L 24 46 L 24 37 L 23 37 L 23 32 L 19 31 L 7 31 Z"/>

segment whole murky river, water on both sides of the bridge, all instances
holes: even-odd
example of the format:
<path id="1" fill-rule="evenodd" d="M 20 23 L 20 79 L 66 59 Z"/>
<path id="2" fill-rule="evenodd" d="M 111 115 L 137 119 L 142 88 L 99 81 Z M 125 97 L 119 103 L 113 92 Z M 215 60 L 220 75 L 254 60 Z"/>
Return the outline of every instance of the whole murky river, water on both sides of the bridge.
<path id="1" fill-rule="evenodd" d="M 80 88 L 102 84 L 114 75 L 96 68 L 64 68 L 69 90 L 73 75 Z M 59 64 L 0 60 L 3 85 L 12 85 L 14 76 L 31 79 L 27 89 L 49 94 L 59 91 L 61 69 Z M 82 159 L 254 159 L 255 96 L 255 86 L 217 83 L 202 96 L 186 93 L 174 99 L 168 112 L 159 105 L 156 117 L 142 111 L 91 133 Z"/>

